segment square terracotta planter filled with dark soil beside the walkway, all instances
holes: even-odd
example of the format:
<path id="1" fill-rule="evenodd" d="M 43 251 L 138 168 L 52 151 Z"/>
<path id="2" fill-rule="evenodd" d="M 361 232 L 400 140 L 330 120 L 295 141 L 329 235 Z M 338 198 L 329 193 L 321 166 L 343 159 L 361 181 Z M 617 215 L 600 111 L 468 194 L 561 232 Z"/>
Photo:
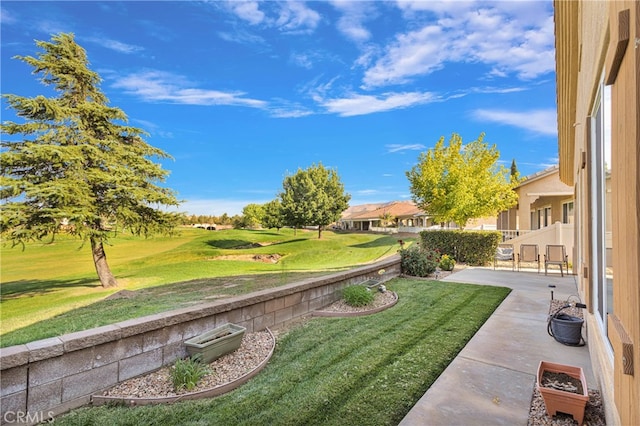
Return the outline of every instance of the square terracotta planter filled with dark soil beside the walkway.
<path id="1" fill-rule="evenodd" d="M 540 361 L 536 386 L 542 395 L 547 415 L 552 417 L 560 411 L 571 414 L 579 425 L 582 424 L 589 400 L 582 368 Z"/>

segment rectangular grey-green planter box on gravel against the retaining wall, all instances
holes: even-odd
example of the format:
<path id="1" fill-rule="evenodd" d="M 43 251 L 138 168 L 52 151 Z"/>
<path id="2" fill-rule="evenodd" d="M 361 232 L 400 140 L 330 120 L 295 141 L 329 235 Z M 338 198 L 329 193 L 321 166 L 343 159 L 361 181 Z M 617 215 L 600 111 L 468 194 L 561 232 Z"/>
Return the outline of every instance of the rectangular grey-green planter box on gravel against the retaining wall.
<path id="1" fill-rule="evenodd" d="M 184 342 L 190 356 L 199 354 L 204 364 L 233 352 L 240 347 L 246 328 L 225 324 Z"/>

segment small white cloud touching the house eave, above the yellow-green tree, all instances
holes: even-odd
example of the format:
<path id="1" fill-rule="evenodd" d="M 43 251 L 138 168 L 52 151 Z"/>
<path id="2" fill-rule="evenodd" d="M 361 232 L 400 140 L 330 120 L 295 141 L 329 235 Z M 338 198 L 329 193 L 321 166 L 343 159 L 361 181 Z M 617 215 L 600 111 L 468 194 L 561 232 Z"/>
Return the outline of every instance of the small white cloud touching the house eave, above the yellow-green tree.
<path id="1" fill-rule="evenodd" d="M 557 134 L 558 125 L 554 109 L 531 111 L 476 110 L 473 116 L 479 121 L 491 121 L 508 126 L 519 127 L 545 136 Z"/>

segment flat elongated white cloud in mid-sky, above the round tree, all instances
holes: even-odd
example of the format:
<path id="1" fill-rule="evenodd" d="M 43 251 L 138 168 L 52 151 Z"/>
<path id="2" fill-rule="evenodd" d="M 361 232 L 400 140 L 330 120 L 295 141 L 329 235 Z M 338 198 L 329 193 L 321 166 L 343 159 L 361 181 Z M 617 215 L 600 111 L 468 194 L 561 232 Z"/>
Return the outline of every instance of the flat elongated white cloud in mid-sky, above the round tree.
<path id="1" fill-rule="evenodd" d="M 354 94 L 320 101 L 329 112 L 342 117 L 391 111 L 437 101 L 430 92 L 384 93 L 380 96 Z"/>

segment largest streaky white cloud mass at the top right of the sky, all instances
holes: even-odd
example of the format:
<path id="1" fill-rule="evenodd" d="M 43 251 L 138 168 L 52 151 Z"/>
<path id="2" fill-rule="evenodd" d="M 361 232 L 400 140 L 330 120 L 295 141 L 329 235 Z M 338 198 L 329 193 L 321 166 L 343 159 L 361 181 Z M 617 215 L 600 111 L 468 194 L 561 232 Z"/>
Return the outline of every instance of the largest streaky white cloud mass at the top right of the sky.
<path id="1" fill-rule="evenodd" d="M 515 3 L 515 4 L 513 4 Z M 366 70 L 367 87 L 401 84 L 447 62 L 482 63 L 489 75 L 532 79 L 553 72 L 553 11 L 546 2 L 399 1 L 422 26 L 396 35 Z"/>

